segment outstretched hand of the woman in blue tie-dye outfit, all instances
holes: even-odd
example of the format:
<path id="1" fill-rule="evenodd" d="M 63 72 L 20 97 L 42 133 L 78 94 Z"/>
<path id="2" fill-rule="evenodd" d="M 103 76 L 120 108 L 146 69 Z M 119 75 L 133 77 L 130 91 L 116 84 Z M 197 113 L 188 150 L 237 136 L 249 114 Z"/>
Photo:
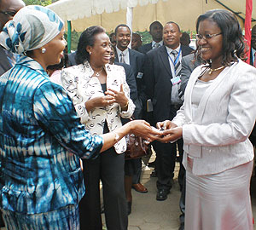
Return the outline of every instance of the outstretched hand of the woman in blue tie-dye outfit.
<path id="1" fill-rule="evenodd" d="M 152 129 L 150 124 L 144 120 L 133 120 L 128 123 L 131 125 L 130 133 L 143 137 L 147 141 L 158 140 L 162 132 L 158 129 Z"/>

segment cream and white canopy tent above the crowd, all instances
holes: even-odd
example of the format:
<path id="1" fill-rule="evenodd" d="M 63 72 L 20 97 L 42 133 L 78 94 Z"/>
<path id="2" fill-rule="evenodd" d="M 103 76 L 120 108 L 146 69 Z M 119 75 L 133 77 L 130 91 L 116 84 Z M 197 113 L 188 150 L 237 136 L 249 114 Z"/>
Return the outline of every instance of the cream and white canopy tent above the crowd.
<path id="1" fill-rule="evenodd" d="M 253 0 L 256 19 L 256 0 Z M 195 32 L 195 20 L 209 9 L 230 9 L 238 16 L 241 26 L 246 12 L 246 0 L 60 0 L 50 4 L 67 23 L 67 31 L 84 31 L 88 26 L 103 26 L 107 32 L 125 23 L 133 31 L 143 32 L 159 20 L 176 21 L 183 31 Z M 253 25 L 256 21 L 253 21 Z"/>

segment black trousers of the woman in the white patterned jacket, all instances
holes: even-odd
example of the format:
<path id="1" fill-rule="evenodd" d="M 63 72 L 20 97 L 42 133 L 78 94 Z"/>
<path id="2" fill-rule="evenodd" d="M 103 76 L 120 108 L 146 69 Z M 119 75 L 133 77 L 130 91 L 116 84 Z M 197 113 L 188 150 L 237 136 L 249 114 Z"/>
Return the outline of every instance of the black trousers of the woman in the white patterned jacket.
<path id="1" fill-rule="evenodd" d="M 81 230 L 102 230 L 100 180 L 108 230 L 127 229 L 124 164 L 125 155 L 117 154 L 113 147 L 95 160 L 83 161 L 85 195 L 79 203 Z"/>

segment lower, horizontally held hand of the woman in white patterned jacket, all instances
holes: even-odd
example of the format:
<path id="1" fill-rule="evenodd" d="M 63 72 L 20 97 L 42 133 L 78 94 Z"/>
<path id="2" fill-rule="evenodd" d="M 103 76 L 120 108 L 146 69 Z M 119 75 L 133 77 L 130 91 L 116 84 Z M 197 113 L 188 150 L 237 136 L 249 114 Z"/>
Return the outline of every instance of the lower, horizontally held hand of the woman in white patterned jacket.
<path id="1" fill-rule="evenodd" d="M 110 106 L 115 102 L 112 95 L 97 96 L 85 102 L 85 108 L 87 112 L 90 112 L 96 107 Z"/>

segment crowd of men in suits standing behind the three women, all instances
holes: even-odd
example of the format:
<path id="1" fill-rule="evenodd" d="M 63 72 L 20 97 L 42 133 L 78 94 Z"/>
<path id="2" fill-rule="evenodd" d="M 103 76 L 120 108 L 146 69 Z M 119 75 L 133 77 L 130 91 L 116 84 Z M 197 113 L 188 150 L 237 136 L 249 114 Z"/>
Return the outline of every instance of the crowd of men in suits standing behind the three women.
<path id="1" fill-rule="evenodd" d="M 24 6 L 21 0 L 0 1 L 0 32 L 3 25 Z M 166 22 L 163 26 L 159 21 L 154 21 L 149 26 L 152 42 L 142 45 L 142 37 L 138 33 L 131 33 L 129 26 L 120 24 L 111 34 L 111 42 L 115 46 L 115 63 L 125 63 L 131 66 L 132 76 L 136 79 L 137 98 L 135 102 L 136 118 L 146 119 L 150 124 L 164 120 L 172 120 L 177 110 L 183 104 L 183 93 L 191 72 L 201 64 L 200 58 L 195 58 L 195 50 L 189 47 L 189 35 L 182 33 L 174 21 Z M 131 43 L 131 49 L 129 44 Z M 69 55 L 70 63 L 74 61 Z M 252 29 L 252 47 L 250 64 L 256 67 L 256 26 Z M 15 55 L 0 46 L 0 75 L 8 71 L 15 64 Z M 71 64 L 74 65 L 74 62 Z M 255 129 L 251 140 L 255 141 Z M 165 200 L 173 185 L 174 167 L 177 160 L 183 158 L 183 140 L 174 143 L 152 143 L 156 153 L 156 160 L 152 176 L 157 176 L 157 200 Z M 139 193 L 148 190 L 140 182 L 141 161 L 138 164 L 137 175 L 133 178 L 133 188 Z M 184 221 L 184 194 L 185 170 L 180 164 L 178 183 L 182 191 L 180 217 L 183 229 Z"/>

